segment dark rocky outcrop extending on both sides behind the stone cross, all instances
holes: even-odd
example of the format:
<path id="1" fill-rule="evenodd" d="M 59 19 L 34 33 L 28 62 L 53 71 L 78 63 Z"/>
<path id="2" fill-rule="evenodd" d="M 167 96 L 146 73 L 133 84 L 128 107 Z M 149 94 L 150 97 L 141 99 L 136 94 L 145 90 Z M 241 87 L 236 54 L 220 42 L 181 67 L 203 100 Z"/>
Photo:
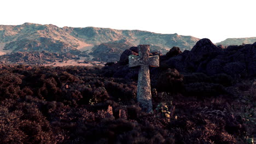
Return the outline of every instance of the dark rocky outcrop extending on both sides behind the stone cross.
<path id="1" fill-rule="evenodd" d="M 107 74 L 114 75 L 115 77 L 125 77 L 126 79 L 136 79 L 137 69 L 127 67 L 128 56 L 138 55 L 135 52 L 136 50 L 136 47 L 125 50 L 120 57 L 120 61 L 108 67 L 108 70 L 106 70 L 108 71 Z M 181 53 L 178 47 L 174 47 L 167 55 L 160 56 L 160 68 L 150 68 L 152 86 L 156 86 L 155 83 L 158 83 L 159 76 L 165 73 L 164 71 L 167 69 L 176 69 L 182 74 L 201 73 L 207 76 L 213 76 L 215 77 L 214 79 L 201 82 L 211 83 L 217 80 L 217 83 L 221 83 L 221 85 L 226 84 L 225 82 L 219 82 L 221 80 L 218 79 L 230 81 L 230 78 L 226 77 L 232 77 L 233 79 L 255 77 L 256 43 L 228 46 L 222 49 L 215 46 L 209 39 L 201 39 L 191 51 L 185 50 Z M 196 85 L 191 84 L 190 86 Z M 217 87 L 217 85 L 211 86 Z M 222 86 L 220 87 L 222 88 Z"/>

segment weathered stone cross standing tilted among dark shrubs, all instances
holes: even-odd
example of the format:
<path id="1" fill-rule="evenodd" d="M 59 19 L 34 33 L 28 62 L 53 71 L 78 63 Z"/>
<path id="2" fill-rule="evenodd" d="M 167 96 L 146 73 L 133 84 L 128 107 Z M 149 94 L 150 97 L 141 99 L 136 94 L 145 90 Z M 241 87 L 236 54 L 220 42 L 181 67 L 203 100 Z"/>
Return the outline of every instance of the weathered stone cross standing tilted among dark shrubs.
<path id="1" fill-rule="evenodd" d="M 129 56 L 129 67 L 139 66 L 137 101 L 144 112 L 152 112 L 149 66 L 159 67 L 159 56 L 149 56 L 149 45 L 138 45 L 139 55 Z"/>

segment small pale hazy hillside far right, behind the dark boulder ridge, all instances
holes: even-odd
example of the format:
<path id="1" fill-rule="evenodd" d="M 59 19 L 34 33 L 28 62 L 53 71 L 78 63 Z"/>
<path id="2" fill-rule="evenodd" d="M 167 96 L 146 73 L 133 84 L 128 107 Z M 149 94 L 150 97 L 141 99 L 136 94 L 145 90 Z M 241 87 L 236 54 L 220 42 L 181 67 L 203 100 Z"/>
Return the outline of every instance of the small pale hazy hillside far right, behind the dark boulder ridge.
<path id="1" fill-rule="evenodd" d="M 216 45 L 242 45 L 242 44 L 253 44 L 256 42 L 256 37 L 252 38 L 229 38 L 224 41 L 217 43 Z"/>

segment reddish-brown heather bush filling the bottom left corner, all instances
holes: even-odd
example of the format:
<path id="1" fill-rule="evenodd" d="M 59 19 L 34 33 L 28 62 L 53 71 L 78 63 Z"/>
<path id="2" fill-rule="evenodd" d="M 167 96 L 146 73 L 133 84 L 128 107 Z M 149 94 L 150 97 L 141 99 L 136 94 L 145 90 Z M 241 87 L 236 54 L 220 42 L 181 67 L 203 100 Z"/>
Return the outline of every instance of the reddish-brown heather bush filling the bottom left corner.
<path id="1" fill-rule="evenodd" d="M 49 122 L 36 105 L 4 100 L 0 122 L 1 143 L 56 143 Z"/>

